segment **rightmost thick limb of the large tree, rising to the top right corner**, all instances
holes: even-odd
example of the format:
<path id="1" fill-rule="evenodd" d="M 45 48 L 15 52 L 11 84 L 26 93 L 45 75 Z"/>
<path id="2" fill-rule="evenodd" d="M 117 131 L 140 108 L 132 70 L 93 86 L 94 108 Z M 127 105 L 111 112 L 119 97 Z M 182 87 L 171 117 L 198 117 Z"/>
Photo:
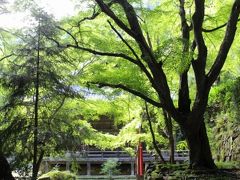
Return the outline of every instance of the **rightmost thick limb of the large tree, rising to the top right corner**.
<path id="1" fill-rule="evenodd" d="M 225 37 L 224 37 L 222 44 L 220 46 L 220 49 L 218 51 L 218 55 L 215 59 L 215 62 L 207 74 L 208 87 L 211 87 L 211 85 L 217 79 L 217 77 L 226 61 L 227 54 L 230 50 L 230 47 L 233 43 L 233 40 L 234 40 L 234 37 L 236 34 L 237 23 L 239 21 L 239 19 L 238 19 L 239 13 L 240 13 L 240 0 L 235 0 L 234 4 L 232 6 L 230 18 L 227 23 Z"/>

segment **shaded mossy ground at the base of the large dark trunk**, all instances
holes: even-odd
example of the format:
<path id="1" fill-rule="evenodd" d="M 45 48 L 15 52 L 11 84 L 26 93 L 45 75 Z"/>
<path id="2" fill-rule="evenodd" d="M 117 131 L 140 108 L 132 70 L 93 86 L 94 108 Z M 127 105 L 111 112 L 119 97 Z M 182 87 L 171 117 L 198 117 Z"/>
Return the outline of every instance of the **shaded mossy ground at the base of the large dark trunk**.
<path id="1" fill-rule="evenodd" d="M 187 165 L 157 165 L 148 168 L 148 180 L 240 180 L 240 168 L 190 170 Z"/>

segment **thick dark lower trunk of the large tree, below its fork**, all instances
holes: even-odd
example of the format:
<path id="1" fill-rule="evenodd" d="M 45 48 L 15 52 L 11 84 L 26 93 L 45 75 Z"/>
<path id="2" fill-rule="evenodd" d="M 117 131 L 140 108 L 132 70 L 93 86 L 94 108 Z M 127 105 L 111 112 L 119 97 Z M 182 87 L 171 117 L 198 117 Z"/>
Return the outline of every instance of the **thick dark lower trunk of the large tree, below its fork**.
<path id="1" fill-rule="evenodd" d="M 188 123 L 182 125 L 190 151 L 190 168 L 216 169 L 212 159 L 205 123 L 203 119 L 200 122 L 198 121 L 198 124 L 192 123 L 193 121 L 196 122 L 196 120 L 188 119 Z"/>

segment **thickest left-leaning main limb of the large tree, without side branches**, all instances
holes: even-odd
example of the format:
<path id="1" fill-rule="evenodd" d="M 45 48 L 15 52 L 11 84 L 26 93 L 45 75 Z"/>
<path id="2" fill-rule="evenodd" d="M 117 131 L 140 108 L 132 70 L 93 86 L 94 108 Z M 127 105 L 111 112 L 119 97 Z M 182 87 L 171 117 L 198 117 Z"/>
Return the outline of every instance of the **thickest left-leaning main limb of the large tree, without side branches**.
<path id="1" fill-rule="evenodd" d="M 138 18 L 133 6 L 127 0 L 116 0 L 116 2 L 122 6 L 131 31 L 133 31 L 135 35 L 132 37 L 138 43 L 138 46 L 141 50 L 141 58 L 147 63 L 148 68 L 151 70 L 154 80 L 152 87 L 158 93 L 161 103 L 164 104 L 168 112 L 171 112 L 170 114 L 173 117 L 176 117 L 177 111 L 171 99 L 171 93 L 167 83 L 166 75 L 162 69 L 162 63 L 156 61 L 151 48 L 143 36 L 142 29 L 138 22 Z"/>

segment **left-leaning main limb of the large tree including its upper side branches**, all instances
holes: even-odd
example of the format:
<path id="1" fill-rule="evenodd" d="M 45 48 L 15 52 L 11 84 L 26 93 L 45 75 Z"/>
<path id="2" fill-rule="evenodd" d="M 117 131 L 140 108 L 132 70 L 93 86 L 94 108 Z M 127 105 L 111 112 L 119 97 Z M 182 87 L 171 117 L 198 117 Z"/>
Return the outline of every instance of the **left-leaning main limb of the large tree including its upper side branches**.
<path id="1" fill-rule="evenodd" d="M 56 40 L 53 40 L 59 47 L 61 48 L 75 48 L 82 51 L 89 52 L 91 54 L 100 55 L 100 56 L 109 56 L 109 57 L 119 57 L 128 60 L 129 62 L 134 63 L 138 67 L 141 68 L 145 73 L 148 74 L 148 78 L 151 79 L 152 87 L 156 90 L 160 102 L 164 104 L 164 107 L 167 111 L 172 115 L 172 117 L 177 117 L 177 110 L 173 104 L 170 89 L 167 83 L 166 75 L 162 69 L 162 63 L 157 62 L 151 48 L 148 46 L 146 42 L 142 29 L 138 23 L 136 12 L 130 3 L 127 0 L 115 0 L 120 6 L 122 6 L 124 13 L 128 19 L 129 26 L 126 25 L 123 21 L 121 21 L 117 15 L 110 9 L 107 3 L 103 0 L 95 0 L 96 3 L 99 5 L 102 12 L 104 12 L 107 16 L 109 16 L 117 25 L 118 27 L 123 30 L 126 34 L 130 35 L 135 42 L 138 44 L 141 50 L 141 59 L 143 59 L 147 64 L 144 65 L 140 63 L 141 61 L 132 58 L 126 54 L 122 53 L 112 53 L 112 52 L 101 52 L 91 48 L 82 47 L 79 44 L 67 44 L 61 45 Z M 146 67 L 148 66 L 148 67 Z M 149 68 L 151 72 L 146 71 Z M 148 70 L 148 69 L 147 69 Z M 151 74 L 150 74 L 151 73 Z M 153 103 L 156 106 L 159 106 L 159 103 Z"/>

